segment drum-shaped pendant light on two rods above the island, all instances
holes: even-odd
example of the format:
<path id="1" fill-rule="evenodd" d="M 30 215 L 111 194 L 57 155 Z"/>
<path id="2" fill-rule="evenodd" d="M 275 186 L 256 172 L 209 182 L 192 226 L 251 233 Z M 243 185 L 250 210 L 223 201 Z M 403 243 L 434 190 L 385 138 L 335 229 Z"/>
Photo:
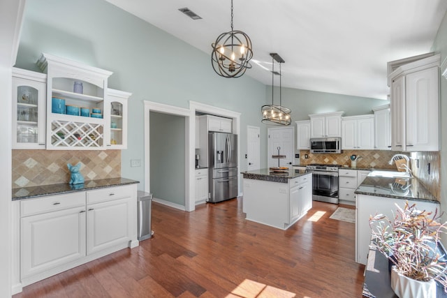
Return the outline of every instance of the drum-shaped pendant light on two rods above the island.
<path id="1" fill-rule="evenodd" d="M 281 105 L 281 64 L 283 64 L 285 61 L 277 53 L 270 53 L 270 56 L 272 56 L 272 104 L 263 105 L 263 107 L 261 108 L 261 113 L 263 115 L 262 122 L 265 124 L 273 125 L 290 125 L 292 121 L 292 111 L 289 108 L 283 107 Z M 273 78 L 275 75 L 274 60 L 279 63 L 279 105 L 273 104 Z"/>

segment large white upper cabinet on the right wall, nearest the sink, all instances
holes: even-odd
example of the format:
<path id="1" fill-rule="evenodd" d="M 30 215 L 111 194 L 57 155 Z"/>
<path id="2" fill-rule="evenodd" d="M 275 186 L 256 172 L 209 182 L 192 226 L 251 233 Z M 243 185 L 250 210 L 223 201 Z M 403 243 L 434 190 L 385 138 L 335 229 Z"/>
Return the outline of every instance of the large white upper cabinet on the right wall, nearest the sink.
<path id="1" fill-rule="evenodd" d="M 439 61 L 437 54 L 389 75 L 393 150 L 439 151 Z"/>

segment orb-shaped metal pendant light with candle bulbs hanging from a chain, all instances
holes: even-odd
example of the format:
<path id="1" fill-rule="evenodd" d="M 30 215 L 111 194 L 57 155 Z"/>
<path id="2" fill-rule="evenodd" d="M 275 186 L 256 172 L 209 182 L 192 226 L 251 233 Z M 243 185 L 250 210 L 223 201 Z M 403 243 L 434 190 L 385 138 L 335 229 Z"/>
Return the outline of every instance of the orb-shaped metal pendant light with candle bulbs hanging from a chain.
<path id="1" fill-rule="evenodd" d="M 233 0 L 231 0 L 231 31 L 221 33 L 212 45 L 211 63 L 214 71 L 221 77 L 241 77 L 253 57 L 249 36 L 233 30 Z"/>

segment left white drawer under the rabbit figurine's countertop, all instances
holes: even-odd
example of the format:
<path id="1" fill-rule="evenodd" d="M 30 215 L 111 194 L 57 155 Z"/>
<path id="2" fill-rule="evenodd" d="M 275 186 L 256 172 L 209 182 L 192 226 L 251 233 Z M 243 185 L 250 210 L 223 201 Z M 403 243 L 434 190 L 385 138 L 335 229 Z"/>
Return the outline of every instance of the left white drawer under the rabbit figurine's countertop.
<path id="1" fill-rule="evenodd" d="M 43 198 L 21 201 L 20 216 L 43 214 L 80 206 L 85 206 L 85 191 L 64 195 L 49 195 Z"/>

